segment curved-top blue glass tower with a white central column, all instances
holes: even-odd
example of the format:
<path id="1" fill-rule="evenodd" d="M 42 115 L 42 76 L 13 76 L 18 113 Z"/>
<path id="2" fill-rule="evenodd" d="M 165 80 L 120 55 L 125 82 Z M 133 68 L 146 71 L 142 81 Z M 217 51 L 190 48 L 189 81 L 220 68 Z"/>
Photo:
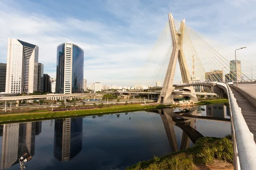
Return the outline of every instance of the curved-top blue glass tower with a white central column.
<path id="1" fill-rule="evenodd" d="M 57 47 L 56 93 L 83 92 L 84 50 L 71 43 Z"/>

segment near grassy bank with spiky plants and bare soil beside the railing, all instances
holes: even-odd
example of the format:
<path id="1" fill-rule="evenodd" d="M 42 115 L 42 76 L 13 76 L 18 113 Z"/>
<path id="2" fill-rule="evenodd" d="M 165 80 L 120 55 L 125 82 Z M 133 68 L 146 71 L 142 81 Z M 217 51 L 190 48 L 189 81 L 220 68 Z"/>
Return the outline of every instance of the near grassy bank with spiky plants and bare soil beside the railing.
<path id="1" fill-rule="evenodd" d="M 186 150 L 154 156 L 126 170 L 210 170 L 233 168 L 233 143 L 229 139 L 203 137 Z"/>

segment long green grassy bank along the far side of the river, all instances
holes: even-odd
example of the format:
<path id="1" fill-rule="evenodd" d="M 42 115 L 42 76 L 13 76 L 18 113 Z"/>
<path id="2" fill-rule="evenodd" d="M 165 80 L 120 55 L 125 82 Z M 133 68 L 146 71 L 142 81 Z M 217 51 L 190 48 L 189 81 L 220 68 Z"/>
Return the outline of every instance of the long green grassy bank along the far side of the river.
<path id="1" fill-rule="evenodd" d="M 208 105 L 215 103 L 226 103 L 226 99 L 217 99 L 217 100 L 205 100 L 196 103 L 195 105 Z M 87 107 L 75 107 L 76 109 L 81 109 L 74 111 L 72 107 L 72 111 L 49 111 L 49 110 L 31 110 L 24 111 L 18 110 L 17 113 L 3 113 L 0 115 L 0 123 L 6 122 L 17 122 L 17 121 L 29 121 L 29 120 L 39 120 L 39 119 L 52 119 L 66 116 L 79 116 L 79 115 L 95 115 L 102 113 L 113 113 L 113 112 L 123 112 L 123 111 L 138 111 L 144 109 L 160 109 L 160 108 L 170 108 L 170 107 L 179 107 L 179 105 L 140 105 L 140 104 L 132 104 L 132 105 L 106 105 L 102 106 L 102 108 L 91 108 Z M 97 106 L 96 106 L 97 107 Z M 99 107 L 99 105 L 98 105 Z M 58 109 L 60 110 L 60 108 Z"/>

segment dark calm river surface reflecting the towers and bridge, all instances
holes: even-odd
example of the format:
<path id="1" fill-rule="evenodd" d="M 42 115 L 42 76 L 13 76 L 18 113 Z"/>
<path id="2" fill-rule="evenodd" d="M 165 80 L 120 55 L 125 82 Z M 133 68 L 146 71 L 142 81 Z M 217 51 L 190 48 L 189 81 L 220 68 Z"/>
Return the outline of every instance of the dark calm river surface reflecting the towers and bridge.
<path id="1" fill-rule="evenodd" d="M 196 136 L 231 133 L 223 104 L 115 113 L 0 126 L 0 169 L 19 170 L 17 159 L 30 153 L 27 170 L 123 170 L 154 155 L 193 146 Z M 190 139 L 191 138 L 191 139 Z"/>

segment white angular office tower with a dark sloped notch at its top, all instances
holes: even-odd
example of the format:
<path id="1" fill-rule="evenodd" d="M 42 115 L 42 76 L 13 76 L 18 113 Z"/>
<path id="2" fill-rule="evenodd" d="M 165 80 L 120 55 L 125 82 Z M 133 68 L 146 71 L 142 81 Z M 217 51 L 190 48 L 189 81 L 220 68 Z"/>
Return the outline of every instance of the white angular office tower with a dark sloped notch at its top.
<path id="1" fill-rule="evenodd" d="M 38 85 L 38 46 L 8 38 L 6 93 L 33 93 Z"/>

